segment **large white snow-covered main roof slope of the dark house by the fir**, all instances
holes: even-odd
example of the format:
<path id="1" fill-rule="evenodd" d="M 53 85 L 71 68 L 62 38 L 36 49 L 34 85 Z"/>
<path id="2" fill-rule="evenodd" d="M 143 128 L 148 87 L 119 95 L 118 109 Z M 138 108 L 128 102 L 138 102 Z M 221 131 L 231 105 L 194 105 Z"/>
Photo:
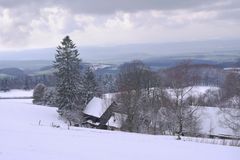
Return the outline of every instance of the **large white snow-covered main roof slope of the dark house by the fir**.
<path id="1" fill-rule="evenodd" d="M 83 113 L 100 118 L 111 104 L 112 101 L 109 99 L 93 97 L 93 99 L 87 104 Z"/>

